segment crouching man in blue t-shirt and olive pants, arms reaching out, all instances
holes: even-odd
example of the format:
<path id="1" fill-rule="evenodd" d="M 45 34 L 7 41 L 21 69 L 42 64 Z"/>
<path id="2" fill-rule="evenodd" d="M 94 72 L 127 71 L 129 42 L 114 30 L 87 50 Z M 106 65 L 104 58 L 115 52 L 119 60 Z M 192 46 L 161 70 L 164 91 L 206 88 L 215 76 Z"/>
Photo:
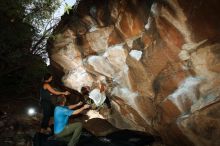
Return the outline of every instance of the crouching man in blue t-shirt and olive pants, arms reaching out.
<path id="1" fill-rule="evenodd" d="M 54 133 L 56 139 L 68 142 L 68 146 L 75 146 L 82 131 L 82 124 L 80 122 L 68 124 L 68 119 L 71 115 L 77 115 L 90 106 L 85 104 L 77 110 L 72 110 L 82 105 L 82 102 L 69 106 L 65 106 L 65 103 L 65 97 L 58 97 L 59 106 L 54 111 Z"/>

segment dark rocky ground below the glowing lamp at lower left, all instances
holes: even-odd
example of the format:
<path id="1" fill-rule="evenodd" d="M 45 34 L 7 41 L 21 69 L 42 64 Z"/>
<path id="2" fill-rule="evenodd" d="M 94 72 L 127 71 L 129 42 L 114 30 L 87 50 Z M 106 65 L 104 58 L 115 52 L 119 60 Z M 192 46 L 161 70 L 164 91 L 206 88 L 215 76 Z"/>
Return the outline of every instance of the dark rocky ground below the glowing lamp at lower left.
<path id="1" fill-rule="evenodd" d="M 32 138 L 38 123 L 38 119 L 27 116 L 16 117 L 7 113 L 1 114 L 0 145 L 32 146 Z"/>

